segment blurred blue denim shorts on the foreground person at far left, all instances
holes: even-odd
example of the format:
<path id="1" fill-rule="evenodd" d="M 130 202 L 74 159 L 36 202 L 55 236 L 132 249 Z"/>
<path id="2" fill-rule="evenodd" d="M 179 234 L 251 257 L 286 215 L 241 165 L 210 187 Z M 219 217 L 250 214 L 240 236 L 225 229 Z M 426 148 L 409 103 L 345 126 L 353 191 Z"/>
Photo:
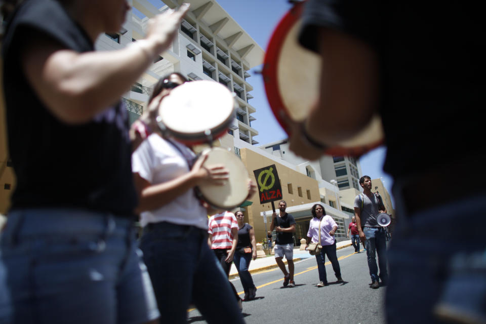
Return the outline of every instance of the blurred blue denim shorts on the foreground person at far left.
<path id="1" fill-rule="evenodd" d="M 158 317 L 134 222 L 69 209 L 12 211 L 0 248 L 0 323 Z"/>

